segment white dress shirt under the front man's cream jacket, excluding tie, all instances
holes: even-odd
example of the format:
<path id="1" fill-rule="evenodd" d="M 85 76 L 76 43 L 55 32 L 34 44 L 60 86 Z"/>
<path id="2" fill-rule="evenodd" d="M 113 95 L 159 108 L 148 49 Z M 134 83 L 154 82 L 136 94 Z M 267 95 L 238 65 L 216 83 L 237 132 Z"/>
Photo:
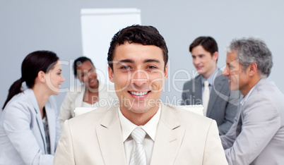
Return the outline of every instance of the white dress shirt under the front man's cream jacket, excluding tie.
<path id="1" fill-rule="evenodd" d="M 154 142 L 155 142 L 155 135 L 157 133 L 158 123 L 160 120 L 161 108 L 159 107 L 157 113 L 146 123 L 144 126 L 139 126 L 143 128 L 146 132 L 146 137 L 143 141 L 143 147 L 146 152 L 146 162 L 147 165 L 150 164 L 150 159 L 153 152 Z M 127 164 L 129 164 L 132 152 L 134 152 L 134 147 L 136 145 L 133 138 L 131 138 L 132 131 L 138 127 L 131 121 L 129 121 L 126 117 L 123 116 L 122 112 L 119 111 L 119 120 L 122 127 L 122 138 L 124 140 L 124 150 L 126 155 Z"/>

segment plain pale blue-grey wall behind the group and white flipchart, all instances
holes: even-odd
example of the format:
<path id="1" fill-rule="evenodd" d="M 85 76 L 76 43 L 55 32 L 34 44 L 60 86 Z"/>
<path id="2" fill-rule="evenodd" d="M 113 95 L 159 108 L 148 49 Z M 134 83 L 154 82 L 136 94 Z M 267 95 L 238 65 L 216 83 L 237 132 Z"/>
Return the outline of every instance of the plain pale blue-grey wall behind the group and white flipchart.
<path id="1" fill-rule="evenodd" d="M 194 71 L 189 44 L 200 35 L 214 37 L 220 49 L 218 66 L 225 65 L 225 46 L 235 37 L 261 37 L 273 52 L 271 80 L 281 91 L 283 76 L 284 2 L 283 1 L 153 1 L 153 0 L 50 0 L 0 1 L 0 105 L 3 106 L 8 88 L 20 78 L 20 64 L 35 50 L 56 52 L 61 60 L 70 61 L 82 54 L 81 8 L 139 8 L 143 25 L 153 25 L 165 37 L 170 51 L 170 80 L 165 83 L 162 99 L 170 102 L 181 98 L 184 80 L 180 69 Z M 102 56 L 106 58 L 107 55 Z M 66 82 L 73 84 L 69 66 L 63 66 Z M 71 75 L 71 76 L 70 76 Z M 191 74 L 191 77 L 194 74 Z M 58 105 L 66 93 L 57 97 Z M 172 102 L 175 104 L 175 102 Z"/>

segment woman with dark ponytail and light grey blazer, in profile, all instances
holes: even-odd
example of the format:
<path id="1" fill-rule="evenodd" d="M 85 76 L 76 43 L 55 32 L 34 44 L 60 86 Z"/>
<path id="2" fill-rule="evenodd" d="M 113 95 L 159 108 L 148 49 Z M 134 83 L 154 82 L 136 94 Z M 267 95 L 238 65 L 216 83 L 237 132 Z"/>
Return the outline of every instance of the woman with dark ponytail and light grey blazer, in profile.
<path id="1" fill-rule="evenodd" d="M 21 73 L 0 116 L 0 164 L 53 164 L 61 130 L 50 96 L 58 95 L 64 82 L 59 58 L 52 51 L 34 51 L 23 60 Z"/>

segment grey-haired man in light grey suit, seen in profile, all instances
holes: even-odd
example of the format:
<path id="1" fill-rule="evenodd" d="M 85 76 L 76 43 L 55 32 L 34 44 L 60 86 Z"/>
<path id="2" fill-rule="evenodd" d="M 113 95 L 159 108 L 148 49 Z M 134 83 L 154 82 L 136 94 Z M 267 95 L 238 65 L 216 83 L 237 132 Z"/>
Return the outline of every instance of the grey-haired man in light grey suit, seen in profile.
<path id="1" fill-rule="evenodd" d="M 229 164 L 283 164 L 284 96 L 267 79 L 272 55 L 261 39 L 234 39 L 223 71 L 230 90 L 244 96 L 235 122 L 221 136 Z"/>

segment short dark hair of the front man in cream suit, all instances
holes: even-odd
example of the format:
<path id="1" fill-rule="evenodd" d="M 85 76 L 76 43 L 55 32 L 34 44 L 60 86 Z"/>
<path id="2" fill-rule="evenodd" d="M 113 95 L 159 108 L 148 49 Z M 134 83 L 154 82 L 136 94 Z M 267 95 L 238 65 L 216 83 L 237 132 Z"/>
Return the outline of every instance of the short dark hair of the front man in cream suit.
<path id="1" fill-rule="evenodd" d="M 165 61 L 165 66 L 168 60 L 167 44 L 165 39 L 160 35 L 160 32 L 153 26 L 146 25 L 131 25 L 119 30 L 114 37 L 112 37 L 112 42 L 110 42 L 110 49 L 107 53 L 107 63 L 110 68 L 113 69 L 112 60 L 114 59 L 114 51 L 117 46 L 124 44 L 125 42 L 137 43 L 143 45 L 155 45 L 160 47 L 164 54 L 163 59 Z"/>

